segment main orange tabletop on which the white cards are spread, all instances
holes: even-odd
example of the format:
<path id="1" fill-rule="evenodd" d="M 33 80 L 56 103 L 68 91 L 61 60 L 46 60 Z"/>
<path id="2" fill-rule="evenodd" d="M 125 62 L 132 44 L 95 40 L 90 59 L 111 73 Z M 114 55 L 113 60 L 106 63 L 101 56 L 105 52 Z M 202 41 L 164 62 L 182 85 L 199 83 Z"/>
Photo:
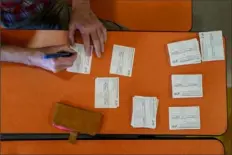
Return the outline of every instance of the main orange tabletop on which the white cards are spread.
<path id="1" fill-rule="evenodd" d="M 3 31 L 2 39 L 12 43 L 12 33 L 21 35 L 15 43 L 32 47 L 54 44 L 66 38 L 65 31 Z M 11 34 L 11 35 L 9 35 Z M 34 35 L 33 35 L 34 34 Z M 167 43 L 197 37 L 196 33 L 110 32 L 104 57 L 93 58 L 90 75 L 63 72 L 52 74 L 39 68 L 3 63 L 1 67 L 1 132 L 60 133 L 52 124 L 56 102 L 65 101 L 104 114 L 101 134 L 177 134 L 220 135 L 227 129 L 225 61 L 171 67 Z M 32 41 L 29 41 L 28 39 Z M 44 39 L 42 39 L 44 38 Z M 50 38 L 50 39 L 49 39 Z M 19 39 L 19 38 L 18 38 Z M 25 40 L 24 40 L 25 39 Z M 42 40 L 42 41 L 41 41 Z M 65 42 L 58 39 L 57 42 Z M 49 42 L 50 41 L 50 42 Z M 23 42 L 25 44 L 23 44 Z M 120 77 L 120 107 L 94 108 L 96 77 L 109 74 L 113 44 L 135 47 L 132 77 Z M 203 74 L 203 98 L 172 99 L 171 74 Z M 157 128 L 134 129 L 130 126 L 132 97 L 157 96 Z M 200 130 L 169 130 L 168 107 L 200 106 Z"/>

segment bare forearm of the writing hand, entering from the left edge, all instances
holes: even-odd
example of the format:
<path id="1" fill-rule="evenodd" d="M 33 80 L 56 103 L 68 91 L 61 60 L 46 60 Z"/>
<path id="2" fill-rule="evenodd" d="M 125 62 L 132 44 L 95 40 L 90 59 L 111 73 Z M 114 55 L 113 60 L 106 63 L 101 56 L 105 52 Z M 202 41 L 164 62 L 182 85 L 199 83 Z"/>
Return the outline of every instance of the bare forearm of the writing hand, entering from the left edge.
<path id="1" fill-rule="evenodd" d="M 1 46 L 1 61 L 32 65 L 31 59 L 36 53 L 34 49 L 17 46 Z"/>

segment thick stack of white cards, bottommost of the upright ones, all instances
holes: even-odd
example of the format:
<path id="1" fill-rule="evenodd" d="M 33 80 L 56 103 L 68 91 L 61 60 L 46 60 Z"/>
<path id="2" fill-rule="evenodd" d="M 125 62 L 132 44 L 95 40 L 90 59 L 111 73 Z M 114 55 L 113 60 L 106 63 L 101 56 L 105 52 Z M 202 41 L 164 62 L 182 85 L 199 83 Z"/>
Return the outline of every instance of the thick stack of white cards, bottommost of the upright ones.
<path id="1" fill-rule="evenodd" d="M 133 97 L 131 126 L 134 128 L 156 128 L 159 100 L 156 97 Z"/>

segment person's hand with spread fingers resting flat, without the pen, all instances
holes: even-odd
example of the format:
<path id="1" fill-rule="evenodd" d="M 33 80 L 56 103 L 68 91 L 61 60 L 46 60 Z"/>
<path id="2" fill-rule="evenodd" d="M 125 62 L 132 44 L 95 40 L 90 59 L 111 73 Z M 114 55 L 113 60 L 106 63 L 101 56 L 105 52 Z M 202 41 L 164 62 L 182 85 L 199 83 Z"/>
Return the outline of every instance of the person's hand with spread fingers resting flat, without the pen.
<path id="1" fill-rule="evenodd" d="M 107 40 L 107 30 L 90 8 L 80 6 L 73 9 L 69 25 L 71 44 L 74 44 L 76 30 L 81 33 L 87 55 L 91 55 L 92 41 L 97 57 L 101 57 L 104 52 L 104 43 Z"/>

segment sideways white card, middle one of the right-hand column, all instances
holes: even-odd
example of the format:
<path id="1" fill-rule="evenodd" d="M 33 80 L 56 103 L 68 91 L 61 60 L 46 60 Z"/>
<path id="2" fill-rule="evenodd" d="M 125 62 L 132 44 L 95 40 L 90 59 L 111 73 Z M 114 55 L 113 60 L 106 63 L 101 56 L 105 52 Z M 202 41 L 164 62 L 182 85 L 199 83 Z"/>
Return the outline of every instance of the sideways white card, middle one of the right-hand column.
<path id="1" fill-rule="evenodd" d="M 203 97 L 202 75 L 172 75 L 172 97 Z"/>

